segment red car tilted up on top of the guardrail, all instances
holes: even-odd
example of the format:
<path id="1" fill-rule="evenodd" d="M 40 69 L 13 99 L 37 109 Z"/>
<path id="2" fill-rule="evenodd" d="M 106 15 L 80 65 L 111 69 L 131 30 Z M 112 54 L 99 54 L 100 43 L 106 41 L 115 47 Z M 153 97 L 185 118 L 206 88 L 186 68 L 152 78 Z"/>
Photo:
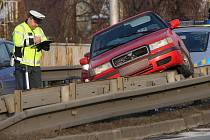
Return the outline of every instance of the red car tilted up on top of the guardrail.
<path id="1" fill-rule="evenodd" d="M 90 53 L 80 59 L 82 80 L 135 76 L 169 68 L 189 77 L 194 71 L 189 52 L 172 31 L 179 24 L 178 19 L 166 23 L 149 11 L 97 32 Z"/>

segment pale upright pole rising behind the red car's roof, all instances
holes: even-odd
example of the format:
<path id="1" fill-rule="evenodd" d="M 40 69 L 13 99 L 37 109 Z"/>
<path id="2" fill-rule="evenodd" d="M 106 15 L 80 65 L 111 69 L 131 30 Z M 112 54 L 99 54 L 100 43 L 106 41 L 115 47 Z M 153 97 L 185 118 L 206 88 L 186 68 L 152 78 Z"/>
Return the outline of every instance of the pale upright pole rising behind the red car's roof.
<path id="1" fill-rule="evenodd" d="M 109 0 L 110 4 L 110 25 L 116 24 L 119 21 L 119 6 L 118 0 Z"/>

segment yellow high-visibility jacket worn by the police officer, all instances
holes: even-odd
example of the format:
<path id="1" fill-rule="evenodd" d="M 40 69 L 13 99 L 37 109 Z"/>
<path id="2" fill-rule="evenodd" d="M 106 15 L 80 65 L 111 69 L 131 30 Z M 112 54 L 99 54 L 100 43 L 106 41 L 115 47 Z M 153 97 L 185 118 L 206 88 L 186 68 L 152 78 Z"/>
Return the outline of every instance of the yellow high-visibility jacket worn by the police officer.
<path id="1" fill-rule="evenodd" d="M 47 37 L 40 27 L 36 27 L 32 30 L 26 22 L 15 27 L 12 38 L 14 46 L 21 47 L 22 58 L 17 57 L 20 64 L 40 66 L 42 51 L 37 51 L 36 47 L 32 47 L 34 44 L 29 45 L 29 43 L 26 43 L 29 38 L 33 40 L 34 36 L 40 36 L 41 42 L 47 40 Z"/>

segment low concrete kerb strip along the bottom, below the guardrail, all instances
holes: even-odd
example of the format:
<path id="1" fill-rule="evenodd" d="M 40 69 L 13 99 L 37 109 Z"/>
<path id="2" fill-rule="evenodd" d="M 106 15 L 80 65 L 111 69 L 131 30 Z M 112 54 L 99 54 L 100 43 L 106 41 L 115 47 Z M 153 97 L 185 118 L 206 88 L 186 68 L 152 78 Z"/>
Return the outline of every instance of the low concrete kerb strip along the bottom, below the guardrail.
<path id="1" fill-rule="evenodd" d="M 183 114 L 182 114 L 183 115 Z M 101 132 L 78 135 L 59 136 L 42 140 L 127 140 L 131 138 L 143 139 L 161 134 L 170 134 L 192 129 L 210 123 L 210 110 L 201 111 L 182 118 L 166 120 L 140 126 L 128 126 Z"/>

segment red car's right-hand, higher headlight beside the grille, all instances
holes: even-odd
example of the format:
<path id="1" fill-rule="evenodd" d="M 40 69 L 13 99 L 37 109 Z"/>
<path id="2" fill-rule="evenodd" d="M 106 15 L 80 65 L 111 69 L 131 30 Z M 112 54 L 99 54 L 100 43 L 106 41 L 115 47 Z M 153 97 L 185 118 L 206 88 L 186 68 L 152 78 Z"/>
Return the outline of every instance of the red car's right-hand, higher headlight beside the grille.
<path id="1" fill-rule="evenodd" d="M 160 41 L 157 41 L 155 43 L 150 44 L 149 48 L 152 51 L 152 50 L 155 50 L 157 48 L 166 46 L 166 45 L 168 45 L 168 44 L 170 44 L 172 42 L 173 42 L 173 39 L 171 37 L 168 37 L 168 38 L 165 38 L 165 39 L 162 39 Z"/>

